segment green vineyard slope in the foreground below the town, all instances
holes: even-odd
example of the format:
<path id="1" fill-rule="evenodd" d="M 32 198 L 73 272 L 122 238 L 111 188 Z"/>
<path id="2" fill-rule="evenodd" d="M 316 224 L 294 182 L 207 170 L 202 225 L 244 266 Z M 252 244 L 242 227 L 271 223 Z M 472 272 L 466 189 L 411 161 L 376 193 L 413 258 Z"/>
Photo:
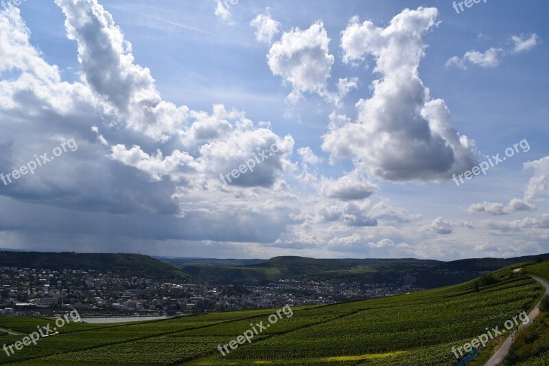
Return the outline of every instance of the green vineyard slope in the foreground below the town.
<path id="1" fill-rule="evenodd" d="M 543 264 L 539 268 L 543 270 Z M 536 268 L 537 269 L 537 268 Z M 217 350 L 277 309 L 218 312 L 130 324 L 68 324 L 0 363 L 15 365 L 454 365 L 460 346 L 523 310 L 543 290 L 510 276 L 476 293 L 471 283 L 409 295 L 292 308 L 277 323 L 222 357 Z M 507 276 L 505 277 L 505 274 Z M 0 328 L 27 334 L 45 318 L 0 317 Z M 3 343 L 22 338 L 3 334 Z"/>

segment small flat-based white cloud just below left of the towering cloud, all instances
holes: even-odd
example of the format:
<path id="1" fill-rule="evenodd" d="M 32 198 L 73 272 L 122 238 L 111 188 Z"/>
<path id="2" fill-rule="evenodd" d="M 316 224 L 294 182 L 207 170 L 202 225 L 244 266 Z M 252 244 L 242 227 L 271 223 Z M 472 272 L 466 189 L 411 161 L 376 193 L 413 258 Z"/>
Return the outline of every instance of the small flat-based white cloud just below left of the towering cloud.
<path id="1" fill-rule="evenodd" d="M 319 187 L 319 192 L 323 196 L 338 198 L 342 201 L 362 200 L 376 191 L 377 186 L 358 170 L 335 180 L 323 178 Z"/>

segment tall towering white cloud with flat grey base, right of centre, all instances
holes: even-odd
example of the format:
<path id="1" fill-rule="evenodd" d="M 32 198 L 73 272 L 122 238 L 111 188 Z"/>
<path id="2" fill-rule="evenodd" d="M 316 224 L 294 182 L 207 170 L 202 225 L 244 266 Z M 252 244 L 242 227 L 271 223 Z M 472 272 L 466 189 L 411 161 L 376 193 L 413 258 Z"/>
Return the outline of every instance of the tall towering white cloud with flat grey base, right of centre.
<path id="1" fill-rule="evenodd" d="M 344 61 L 372 55 L 382 77 L 373 97 L 357 103 L 358 120 L 331 123 L 323 150 L 331 161 L 355 157 L 390 181 L 442 181 L 476 163 L 474 141 L 449 126 L 443 100 L 431 100 L 419 78 L 422 36 L 436 25 L 436 8 L 404 10 L 385 27 L 353 17 L 342 32 Z"/>

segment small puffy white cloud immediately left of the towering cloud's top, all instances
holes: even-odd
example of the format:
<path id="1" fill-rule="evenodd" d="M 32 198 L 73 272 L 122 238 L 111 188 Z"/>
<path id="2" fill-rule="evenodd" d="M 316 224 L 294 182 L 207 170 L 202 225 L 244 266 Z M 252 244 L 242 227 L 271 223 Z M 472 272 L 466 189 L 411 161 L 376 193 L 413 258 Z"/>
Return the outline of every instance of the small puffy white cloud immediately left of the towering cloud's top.
<path id="1" fill-rule="evenodd" d="M 267 56 L 270 70 L 292 86 L 290 102 L 296 102 L 307 92 L 327 95 L 326 81 L 334 65 L 329 41 L 323 22 L 316 21 L 307 30 L 294 28 L 285 32 L 270 48 Z"/>

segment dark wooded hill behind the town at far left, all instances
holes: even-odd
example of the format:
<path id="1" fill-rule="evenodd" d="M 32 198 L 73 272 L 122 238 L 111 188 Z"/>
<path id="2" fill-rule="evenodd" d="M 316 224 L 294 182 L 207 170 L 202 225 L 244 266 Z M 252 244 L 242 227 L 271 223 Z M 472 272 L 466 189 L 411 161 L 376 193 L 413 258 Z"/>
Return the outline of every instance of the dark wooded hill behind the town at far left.
<path id="1" fill-rule="evenodd" d="M 113 271 L 122 277 L 145 277 L 186 282 L 191 276 L 148 255 L 127 253 L 41 253 L 0 251 L 0 266 L 19 268 Z"/>

